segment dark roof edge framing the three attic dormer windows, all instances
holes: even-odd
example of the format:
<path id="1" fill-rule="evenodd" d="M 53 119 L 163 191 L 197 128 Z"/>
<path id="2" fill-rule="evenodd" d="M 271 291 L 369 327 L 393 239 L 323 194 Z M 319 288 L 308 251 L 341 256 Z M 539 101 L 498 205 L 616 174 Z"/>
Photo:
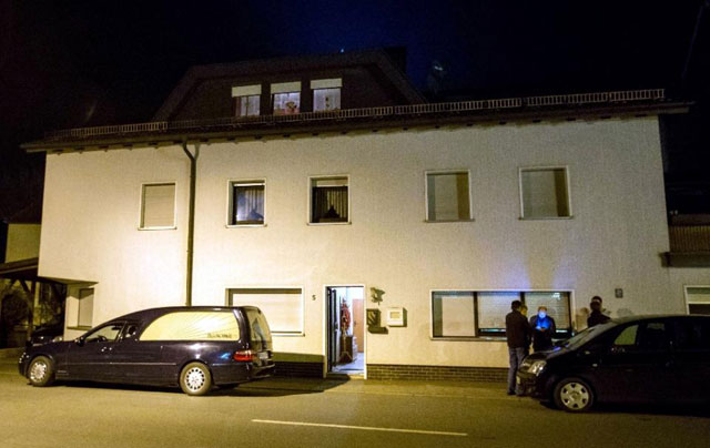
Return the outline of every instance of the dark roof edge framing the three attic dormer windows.
<path id="1" fill-rule="evenodd" d="M 368 50 L 325 55 L 301 55 L 210 65 L 194 65 L 187 70 L 168 100 L 158 110 L 153 121 L 170 120 L 180 105 L 190 95 L 194 86 L 202 80 L 230 78 L 245 74 L 270 74 L 278 71 L 307 71 L 352 65 L 375 65 L 388 79 L 409 103 L 424 103 L 426 100 L 409 79 L 393 61 L 385 50 Z"/>

